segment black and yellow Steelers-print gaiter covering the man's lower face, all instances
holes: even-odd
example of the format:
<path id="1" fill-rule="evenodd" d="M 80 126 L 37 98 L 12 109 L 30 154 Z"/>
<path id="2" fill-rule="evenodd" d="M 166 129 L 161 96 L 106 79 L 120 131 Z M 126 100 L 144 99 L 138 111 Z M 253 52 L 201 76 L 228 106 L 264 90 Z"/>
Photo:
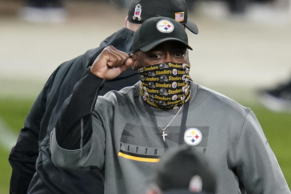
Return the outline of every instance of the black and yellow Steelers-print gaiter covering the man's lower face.
<path id="1" fill-rule="evenodd" d="M 189 70 L 189 65 L 173 62 L 150 65 L 137 70 L 142 82 L 142 99 L 157 109 L 180 108 L 190 98 Z"/>

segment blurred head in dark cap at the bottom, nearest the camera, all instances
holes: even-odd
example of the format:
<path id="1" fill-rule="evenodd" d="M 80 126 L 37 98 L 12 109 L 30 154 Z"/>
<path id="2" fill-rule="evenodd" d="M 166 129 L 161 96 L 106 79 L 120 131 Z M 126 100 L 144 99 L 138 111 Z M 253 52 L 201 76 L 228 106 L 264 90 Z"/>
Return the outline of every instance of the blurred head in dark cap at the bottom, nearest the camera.
<path id="1" fill-rule="evenodd" d="M 157 165 L 147 194 L 214 194 L 216 178 L 206 157 L 193 148 L 169 150 Z"/>

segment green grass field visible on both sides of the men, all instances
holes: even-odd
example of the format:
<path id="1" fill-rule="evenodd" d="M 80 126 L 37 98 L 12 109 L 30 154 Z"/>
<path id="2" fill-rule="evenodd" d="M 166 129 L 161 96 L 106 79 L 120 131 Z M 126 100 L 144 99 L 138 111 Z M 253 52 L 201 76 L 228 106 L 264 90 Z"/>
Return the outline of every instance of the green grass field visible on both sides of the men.
<path id="1" fill-rule="evenodd" d="M 18 135 L 34 99 L 0 98 L 0 118 L 15 135 Z M 291 114 L 270 112 L 261 105 L 242 103 L 256 114 L 275 153 L 283 174 L 291 188 Z M 0 193 L 8 193 L 11 167 L 9 151 L 0 147 Z"/>

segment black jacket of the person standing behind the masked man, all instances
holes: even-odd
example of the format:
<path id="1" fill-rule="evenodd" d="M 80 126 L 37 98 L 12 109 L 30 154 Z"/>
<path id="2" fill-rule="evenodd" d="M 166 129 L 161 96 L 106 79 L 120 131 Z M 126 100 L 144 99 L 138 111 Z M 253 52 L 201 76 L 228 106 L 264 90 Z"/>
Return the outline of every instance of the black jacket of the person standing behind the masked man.
<path id="1" fill-rule="evenodd" d="M 98 48 L 62 63 L 52 73 L 34 102 L 9 155 L 12 166 L 10 193 L 103 193 L 102 172 L 99 169 L 69 171 L 53 165 L 49 136 L 60 116 L 63 102 L 72 94 L 74 85 L 85 69 L 92 65 L 106 46 L 112 45 L 130 53 L 133 35 L 133 31 L 122 28 L 106 38 Z M 129 69 L 117 78 L 106 81 L 99 95 L 134 85 L 138 81 L 137 72 Z"/>

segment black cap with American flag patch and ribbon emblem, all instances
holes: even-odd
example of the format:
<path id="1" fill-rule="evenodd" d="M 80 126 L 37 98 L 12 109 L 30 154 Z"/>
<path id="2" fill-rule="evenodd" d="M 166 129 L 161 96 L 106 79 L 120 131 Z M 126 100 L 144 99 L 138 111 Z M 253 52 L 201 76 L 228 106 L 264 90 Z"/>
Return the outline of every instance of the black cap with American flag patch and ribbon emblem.
<path id="1" fill-rule="evenodd" d="M 198 34 L 197 25 L 188 19 L 185 0 L 133 0 L 129 7 L 128 20 L 142 24 L 156 15 L 172 18 L 194 34 Z"/>

